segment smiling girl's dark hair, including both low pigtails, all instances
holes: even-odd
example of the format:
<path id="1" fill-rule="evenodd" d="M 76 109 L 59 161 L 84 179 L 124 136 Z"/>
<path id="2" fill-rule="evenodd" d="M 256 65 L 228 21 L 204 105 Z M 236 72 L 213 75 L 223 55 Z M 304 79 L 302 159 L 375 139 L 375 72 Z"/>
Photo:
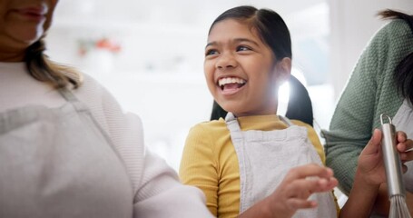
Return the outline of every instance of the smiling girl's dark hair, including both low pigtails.
<path id="1" fill-rule="evenodd" d="M 212 27 L 220 21 L 235 19 L 251 25 L 261 37 L 262 42 L 269 45 L 276 60 L 292 57 L 290 31 L 279 14 L 270 9 L 257 9 L 253 6 L 238 6 L 231 8 L 219 15 L 212 23 Z M 290 75 L 290 101 L 287 106 L 286 116 L 290 119 L 300 120 L 313 124 L 312 104 L 307 89 L 293 75 Z M 215 101 L 212 105 L 211 120 L 225 118 L 227 112 Z"/>

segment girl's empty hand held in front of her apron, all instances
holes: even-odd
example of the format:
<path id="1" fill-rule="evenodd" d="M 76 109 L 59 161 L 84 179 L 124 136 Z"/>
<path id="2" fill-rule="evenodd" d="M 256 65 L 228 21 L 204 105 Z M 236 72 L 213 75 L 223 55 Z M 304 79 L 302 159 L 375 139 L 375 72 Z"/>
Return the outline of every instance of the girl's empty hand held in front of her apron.
<path id="1" fill-rule="evenodd" d="M 317 202 L 308 198 L 311 193 L 329 192 L 338 184 L 333 171 L 316 163 L 302 165 L 290 170 L 265 205 L 269 217 L 290 217 L 298 209 L 317 207 Z"/>

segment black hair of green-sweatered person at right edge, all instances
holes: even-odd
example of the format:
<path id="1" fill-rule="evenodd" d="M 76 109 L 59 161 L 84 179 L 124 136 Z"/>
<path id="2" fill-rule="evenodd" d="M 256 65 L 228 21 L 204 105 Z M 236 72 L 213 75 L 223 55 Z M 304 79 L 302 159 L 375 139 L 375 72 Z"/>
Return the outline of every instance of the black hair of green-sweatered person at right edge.
<path id="1" fill-rule="evenodd" d="M 384 19 L 402 19 L 409 26 L 413 36 L 413 15 L 385 10 L 379 12 L 379 15 Z M 412 37 L 413 39 L 413 37 Z M 407 98 L 413 104 L 413 53 L 408 54 L 396 67 L 394 80 L 398 87 L 398 92 Z"/>

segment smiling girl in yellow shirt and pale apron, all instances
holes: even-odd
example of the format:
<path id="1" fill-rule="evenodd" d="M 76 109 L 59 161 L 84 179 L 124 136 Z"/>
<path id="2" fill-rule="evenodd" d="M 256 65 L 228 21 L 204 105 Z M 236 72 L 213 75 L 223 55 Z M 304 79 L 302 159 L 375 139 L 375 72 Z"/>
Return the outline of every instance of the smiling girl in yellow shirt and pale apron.
<path id="1" fill-rule="evenodd" d="M 239 6 L 212 23 L 204 73 L 214 100 L 229 113 L 192 127 L 180 175 L 183 183 L 202 189 L 215 216 L 337 216 L 330 190 L 338 182 L 323 166 L 316 132 L 309 124 L 277 115 L 278 89 L 290 70 L 290 33 L 277 13 Z M 364 162 L 355 186 L 363 190 L 359 199 L 367 201 L 352 204 L 343 215 L 369 213 L 384 171 L 371 171 L 381 166 L 380 157 L 363 158 L 377 154 L 378 147 L 372 144 L 360 155 Z M 372 181 L 367 173 L 380 177 Z"/>

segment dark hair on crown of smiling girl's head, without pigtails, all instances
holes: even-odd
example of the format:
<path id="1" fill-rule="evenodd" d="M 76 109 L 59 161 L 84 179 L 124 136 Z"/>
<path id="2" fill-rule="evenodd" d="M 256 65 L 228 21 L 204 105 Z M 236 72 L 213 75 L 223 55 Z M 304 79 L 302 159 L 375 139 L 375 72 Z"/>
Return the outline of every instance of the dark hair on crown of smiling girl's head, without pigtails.
<path id="1" fill-rule="evenodd" d="M 290 31 L 279 14 L 270 9 L 257 9 L 243 5 L 231 8 L 219 15 L 212 27 L 220 21 L 235 19 L 245 22 L 255 28 L 262 42 L 270 46 L 277 60 L 292 56 Z"/>

